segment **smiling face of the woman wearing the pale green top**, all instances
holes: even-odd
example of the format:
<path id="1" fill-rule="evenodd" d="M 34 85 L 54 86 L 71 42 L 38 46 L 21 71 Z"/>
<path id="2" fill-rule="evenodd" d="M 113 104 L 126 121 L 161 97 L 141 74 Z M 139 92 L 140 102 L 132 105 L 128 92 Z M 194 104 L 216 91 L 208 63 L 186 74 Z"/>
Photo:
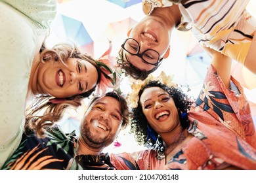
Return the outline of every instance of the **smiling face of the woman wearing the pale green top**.
<path id="1" fill-rule="evenodd" d="M 91 90 L 98 73 L 89 61 L 68 58 L 66 65 L 53 59 L 40 63 L 37 72 L 37 90 L 54 97 L 66 98 Z"/>

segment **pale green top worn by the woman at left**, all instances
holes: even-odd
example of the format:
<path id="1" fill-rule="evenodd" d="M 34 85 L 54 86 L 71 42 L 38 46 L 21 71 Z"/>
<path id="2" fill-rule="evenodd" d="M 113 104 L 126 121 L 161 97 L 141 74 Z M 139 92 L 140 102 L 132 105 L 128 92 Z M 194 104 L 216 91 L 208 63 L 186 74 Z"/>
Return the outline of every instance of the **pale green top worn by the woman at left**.
<path id="1" fill-rule="evenodd" d="M 56 1 L 0 1 L 0 167 L 20 143 L 33 56 L 55 8 Z"/>

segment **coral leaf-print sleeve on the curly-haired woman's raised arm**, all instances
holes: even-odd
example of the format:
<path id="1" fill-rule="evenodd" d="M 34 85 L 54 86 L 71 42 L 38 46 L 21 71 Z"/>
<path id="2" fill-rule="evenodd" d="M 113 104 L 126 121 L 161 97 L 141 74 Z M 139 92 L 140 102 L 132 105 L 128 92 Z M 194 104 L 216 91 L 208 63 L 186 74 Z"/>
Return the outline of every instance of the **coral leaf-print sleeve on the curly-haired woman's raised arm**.
<path id="1" fill-rule="evenodd" d="M 236 88 L 235 91 L 224 86 L 223 81 L 217 75 L 217 71 L 211 65 L 192 111 L 203 110 L 207 112 L 255 148 L 255 126 L 251 117 L 249 102 L 242 86 L 232 76 L 231 82 L 231 85 L 236 86 L 232 86 L 232 88 Z"/>

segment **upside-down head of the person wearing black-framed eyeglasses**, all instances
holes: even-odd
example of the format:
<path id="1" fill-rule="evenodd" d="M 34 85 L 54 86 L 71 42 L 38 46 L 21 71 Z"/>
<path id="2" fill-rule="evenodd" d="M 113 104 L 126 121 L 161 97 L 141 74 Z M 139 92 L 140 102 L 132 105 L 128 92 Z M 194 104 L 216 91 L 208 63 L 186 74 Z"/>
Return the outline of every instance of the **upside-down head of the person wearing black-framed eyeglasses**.
<path id="1" fill-rule="evenodd" d="M 161 8 L 163 9 L 163 8 Z M 165 11 L 154 10 L 127 34 L 119 50 L 117 63 L 127 75 L 144 80 L 169 56 L 174 24 L 164 20 Z"/>

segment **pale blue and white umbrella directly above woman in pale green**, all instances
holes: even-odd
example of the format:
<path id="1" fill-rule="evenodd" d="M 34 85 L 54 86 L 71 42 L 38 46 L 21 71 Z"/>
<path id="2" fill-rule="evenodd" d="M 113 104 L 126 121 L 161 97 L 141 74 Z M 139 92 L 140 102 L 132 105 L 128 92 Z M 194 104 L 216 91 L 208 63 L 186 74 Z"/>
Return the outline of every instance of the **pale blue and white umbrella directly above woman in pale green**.
<path id="1" fill-rule="evenodd" d="M 87 52 L 93 56 L 93 39 L 81 21 L 60 14 L 54 19 L 50 30 L 47 40 L 52 44 L 74 42 L 76 46 L 79 46 L 81 52 Z"/>

